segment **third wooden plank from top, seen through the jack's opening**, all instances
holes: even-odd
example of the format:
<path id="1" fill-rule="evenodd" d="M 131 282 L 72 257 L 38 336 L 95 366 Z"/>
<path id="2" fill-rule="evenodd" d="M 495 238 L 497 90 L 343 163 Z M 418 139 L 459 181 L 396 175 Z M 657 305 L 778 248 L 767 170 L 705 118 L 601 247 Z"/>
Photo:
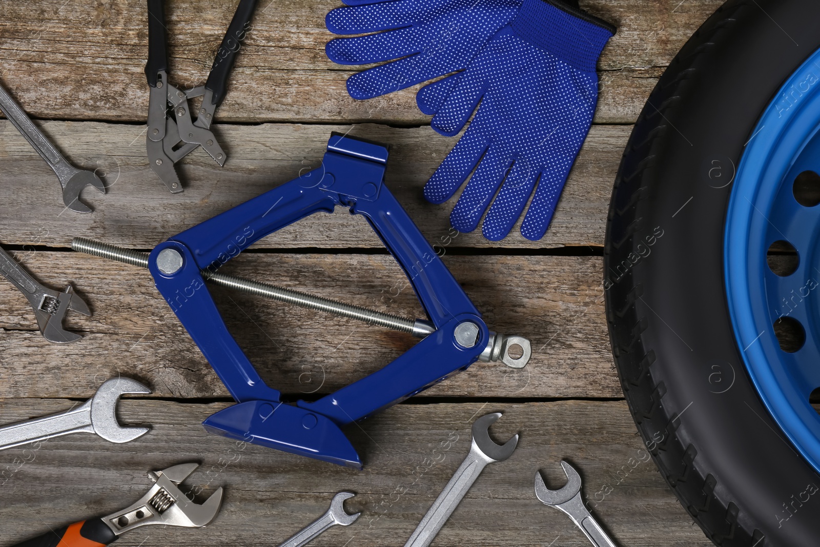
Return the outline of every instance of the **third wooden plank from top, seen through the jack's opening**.
<path id="1" fill-rule="evenodd" d="M 48 344 L 25 298 L 0 282 L 3 396 L 89 397 L 117 374 L 147 381 L 162 397 L 228 396 L 148 271 L 81 253 L 15 254 L 43 283 L 73 281 L 93 317 L 70 313 L 66 325 L 86 333 L 84 340 Z M 529 338 L 533 357 L 518 371 L 477 362 L 425 395 L 622 396 L 604 319 L 600 258 L 443 259 L 490 328 Z M 385 255 L 245 253 L 224 271 L 404 317 L 423 314 L 406 277 Z M 415 343 L 409 335 L 358 321 L 220 288 L 212 293 L 262 377 L 288 394 L 335 391 Z"/>

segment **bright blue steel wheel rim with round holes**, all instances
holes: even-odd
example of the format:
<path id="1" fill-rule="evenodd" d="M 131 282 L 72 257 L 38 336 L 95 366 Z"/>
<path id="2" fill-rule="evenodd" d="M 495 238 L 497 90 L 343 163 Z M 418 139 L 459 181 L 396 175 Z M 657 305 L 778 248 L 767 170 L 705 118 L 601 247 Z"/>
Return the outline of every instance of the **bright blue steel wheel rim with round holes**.
<path id="1" fill-rule="evenodd" d="M 769 413 L 820 472 L 820 415 L 809 395 L 820 388 L 820 205 L 794 194 L 797 175 L 820 174 L 820 50 L 795 71 L 763 112 L 740 160 L 727 211 L 724 275 L 740 353 Z M 786 240 L 799 264 L 789 276 L 768 266 Z M 781 317 L 789 317 L 785 320 Z M 776 321 L 799 321 L 805 341 L 781 349 Z"/>

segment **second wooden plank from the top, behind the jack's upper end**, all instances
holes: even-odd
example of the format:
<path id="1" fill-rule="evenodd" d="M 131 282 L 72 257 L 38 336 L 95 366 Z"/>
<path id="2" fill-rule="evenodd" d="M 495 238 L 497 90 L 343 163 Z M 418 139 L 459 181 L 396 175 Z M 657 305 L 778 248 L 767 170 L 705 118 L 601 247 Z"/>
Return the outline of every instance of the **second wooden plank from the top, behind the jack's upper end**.
<path id="1" fill-rule="evenodd" d="M 229 154 L 219 167 L 203 150 L 177 166 L 185 185 L 169 193 L 148 167 L 142 125 L 97 122 L 43 123 L 66 157 L 98 169 L 106 195 L 86 189 L 82 198 L 95 211 L 66 211 L 57 177 L 8 121 L 0 121 L 0 242 L 67 247 L 83 235 L 127 247 L 153 248 L 160 241 L 268 189 L 321 165 L 333 130 L 391 145 L 386 175 L 389 189 L 430 241 L 444 247 L 544 248 L 601 245 L 612 184 L 629 126 L 595 126 L 572 170 L 552 226 L 540 241 L 518 232 L 490 242 L 481 230 L 458 234 L 449 226 L 455 198 L 433 205 L 421 189 L 455 144 L 427 127 L 396 129 L 385 125 L 221 125 L 216 127 Z M 317 214 L 280 230 L 257 244 L 267 248 L 381 248 L 362 218 L 346 212 Z M 438 248 L 438 247 L 437 247 Z"/>

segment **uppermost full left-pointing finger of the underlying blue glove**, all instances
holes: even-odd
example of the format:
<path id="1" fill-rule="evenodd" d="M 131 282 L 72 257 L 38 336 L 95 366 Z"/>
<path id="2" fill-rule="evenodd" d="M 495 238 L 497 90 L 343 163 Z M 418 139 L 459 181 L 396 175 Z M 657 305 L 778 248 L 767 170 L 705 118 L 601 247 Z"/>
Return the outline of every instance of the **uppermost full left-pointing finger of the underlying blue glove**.
<path id="1" fill-rule="evenodd" d="M 412 25 L 417 15 L 405 0 L 393 2 L 345 2 L 327 12 L 325 25 L 333 34 L 363 34 L 380 30 L 400 29 Z"/>

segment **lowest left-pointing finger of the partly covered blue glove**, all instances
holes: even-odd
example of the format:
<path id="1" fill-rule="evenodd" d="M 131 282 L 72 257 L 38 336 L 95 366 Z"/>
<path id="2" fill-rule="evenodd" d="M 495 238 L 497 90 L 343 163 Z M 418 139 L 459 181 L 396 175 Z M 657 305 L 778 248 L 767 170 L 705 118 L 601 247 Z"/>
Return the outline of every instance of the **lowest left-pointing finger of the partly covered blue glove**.
<path id="1" fill-rule="evenodd" d="M 404 57 L 386 65 L 374 66 L 348 78 L 348 93 L 353 98 L 374 98 L 441 75 L 435 63 L 422 54 Z"/>

